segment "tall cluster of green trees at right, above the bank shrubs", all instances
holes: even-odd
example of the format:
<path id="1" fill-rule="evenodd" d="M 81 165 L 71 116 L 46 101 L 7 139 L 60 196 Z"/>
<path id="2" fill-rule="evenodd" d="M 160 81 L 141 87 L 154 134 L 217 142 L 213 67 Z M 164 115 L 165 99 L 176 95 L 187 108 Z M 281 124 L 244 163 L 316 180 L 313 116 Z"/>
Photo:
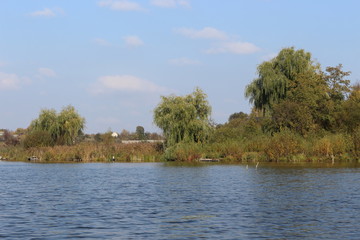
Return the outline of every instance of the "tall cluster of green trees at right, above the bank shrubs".
<path id="1" fill-rule="evenodd" d="M 344 125 L 356 127 L 357 103 L 346 100 L 350 81 L 345 78 L 350 72 L 343 71 L 341 64 L 323 73 L 310 53 L 284 48 L 260 64 L 258 74 L 245 95 L 271 119 L 264 125 L 267 131 L 287 128 L 305 136 L 321 129 L 335 132 Z"/>

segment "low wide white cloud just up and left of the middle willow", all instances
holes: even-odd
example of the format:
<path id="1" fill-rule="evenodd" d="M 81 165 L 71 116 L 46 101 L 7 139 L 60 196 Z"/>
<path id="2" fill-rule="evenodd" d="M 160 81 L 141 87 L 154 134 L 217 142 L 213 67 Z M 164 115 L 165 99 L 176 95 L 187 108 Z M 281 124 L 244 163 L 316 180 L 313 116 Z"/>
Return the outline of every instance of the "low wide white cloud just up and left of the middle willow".
<path id="1" fill-rule="evenodd" d="M 107 91 L 124 92 L 163 92 L 166 88 L 131 75 L 102 76 L 91 87 L 90 91 L 95 94 Z"/>

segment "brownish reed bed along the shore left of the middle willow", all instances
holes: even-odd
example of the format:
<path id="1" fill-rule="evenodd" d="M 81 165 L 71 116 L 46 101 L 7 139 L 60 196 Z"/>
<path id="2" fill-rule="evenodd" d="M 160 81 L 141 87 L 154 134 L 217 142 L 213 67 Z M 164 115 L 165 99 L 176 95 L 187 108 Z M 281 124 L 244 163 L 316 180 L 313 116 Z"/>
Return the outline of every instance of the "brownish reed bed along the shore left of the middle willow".
<path id="1" fill-rule="evenodd" d="M 2 146 L 0 156 L 11 161 L 28 161 L 36 156 L 38 162 L 154 162 L 162 156 L 158 143 L 104 144 L 80 143 L 74 146 L 34 147 Z"/>

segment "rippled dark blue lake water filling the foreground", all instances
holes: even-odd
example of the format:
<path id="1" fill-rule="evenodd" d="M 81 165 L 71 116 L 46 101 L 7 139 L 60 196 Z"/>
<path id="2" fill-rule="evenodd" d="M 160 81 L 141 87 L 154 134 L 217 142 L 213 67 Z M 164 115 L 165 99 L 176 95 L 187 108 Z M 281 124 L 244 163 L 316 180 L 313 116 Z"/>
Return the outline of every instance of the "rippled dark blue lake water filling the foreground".
<path id="1" fill-rule="evenodd" d="M 0 239 L 359 239 L 360 168 L 0 162 Z"/>

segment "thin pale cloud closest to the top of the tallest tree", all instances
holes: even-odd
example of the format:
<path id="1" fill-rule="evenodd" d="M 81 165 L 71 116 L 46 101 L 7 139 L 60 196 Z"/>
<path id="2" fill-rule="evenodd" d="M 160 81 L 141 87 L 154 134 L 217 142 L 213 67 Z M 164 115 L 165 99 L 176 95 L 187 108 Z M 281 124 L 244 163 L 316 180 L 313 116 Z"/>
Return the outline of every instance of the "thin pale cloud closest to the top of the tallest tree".
<path id="1" fill-rule="evenodd" d="M 206 50 L 206 53 L 234 53 L 234 54 L 250 54 L 259 51 L 260 48 L 248 42 L 223 42 L 220 46 Z"/>

